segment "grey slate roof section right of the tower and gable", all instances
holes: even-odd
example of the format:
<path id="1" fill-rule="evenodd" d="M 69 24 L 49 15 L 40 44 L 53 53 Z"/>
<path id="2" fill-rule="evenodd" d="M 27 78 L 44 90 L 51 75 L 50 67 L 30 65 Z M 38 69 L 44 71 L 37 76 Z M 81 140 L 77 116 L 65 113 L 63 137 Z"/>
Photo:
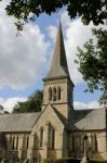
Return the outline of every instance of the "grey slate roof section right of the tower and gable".
<path id="1" fill-rule="evenodd" d="M 71 113 L 70 130 L 96 130 L 106 128 L 106 109 L 78 110 Z"/>

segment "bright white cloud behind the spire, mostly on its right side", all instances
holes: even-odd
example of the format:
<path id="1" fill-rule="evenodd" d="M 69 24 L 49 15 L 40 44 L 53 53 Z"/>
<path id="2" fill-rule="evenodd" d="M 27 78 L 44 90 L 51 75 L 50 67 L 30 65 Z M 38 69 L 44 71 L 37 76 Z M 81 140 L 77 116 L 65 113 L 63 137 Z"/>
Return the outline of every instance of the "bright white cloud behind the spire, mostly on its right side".
<path id="1" fill-rule="evenodd" d="M 65 48 L 68 61 L 68 67 L 70 72 L 71 79 L 75 84 L 82 83 L 82 75 L 78 72 L 77 64 L 75 60 L 77 59 L 77 47 L 83 48 L 85 41 L 90 38 L 94 38 L 92 36 L 91 29 L 96 27 L 92 23 L 90 25 L 83 25 L 81 18 L 77 18 L 71 21 L 67 15 L 67 12 L 63 12 L 62 15 L 62 25 L 65 38 Z M 98 27 L 101 27 L 99 25 Z M 102 26 L 105 27 L 105 26 Z M 55 39 L 56 27 L 49 27 L 49 35 L 52 39 Z M 94 38 L 95 40 L 95 38 Z"/>

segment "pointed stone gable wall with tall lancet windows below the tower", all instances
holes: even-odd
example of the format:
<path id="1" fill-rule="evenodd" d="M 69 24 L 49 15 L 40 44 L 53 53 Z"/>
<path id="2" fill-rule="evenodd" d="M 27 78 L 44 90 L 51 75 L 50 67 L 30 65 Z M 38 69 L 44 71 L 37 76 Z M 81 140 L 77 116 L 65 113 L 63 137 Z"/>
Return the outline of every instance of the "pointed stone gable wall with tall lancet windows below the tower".
<path id="1" fill-rule="evenodd" d="M 54 135 L 54 148 L 49 148 L 49 125 L 52 125 L 54 130 L 55 130 L 55 135 Z M 42 147 L 40 147 L 40 130 L 41 128 L 43 128 L 43 142 L 42 142 Z M 36 136 L 36 140 L 38 147 L 35 148 L 35 152 L 34 152 L 34 156 L 35 158 L 62 158 L 63 156 L 63 150 L 64 150 L 64 125 L 62 124 L 62 122 L 59 121 L 59 118 L 57 117 L 57 115 L 55 114 L 55 112 L 53 111 L 53 109 L 51 108 L 51 105 L 49 104 L 48 108 L 44 110 L 44 112 L 41 114 L 41 117 L 38 120 L 38 122 L 36 123 L 32 133 L 32 136 L 30 136 L 30 145 L 32 145 L 32 147 L 30 147 L 30 149 L 35 148 L 34 147 L 34 138 Z M 31 150 L 29 149 L 29 154 L 31 152 Z"/>

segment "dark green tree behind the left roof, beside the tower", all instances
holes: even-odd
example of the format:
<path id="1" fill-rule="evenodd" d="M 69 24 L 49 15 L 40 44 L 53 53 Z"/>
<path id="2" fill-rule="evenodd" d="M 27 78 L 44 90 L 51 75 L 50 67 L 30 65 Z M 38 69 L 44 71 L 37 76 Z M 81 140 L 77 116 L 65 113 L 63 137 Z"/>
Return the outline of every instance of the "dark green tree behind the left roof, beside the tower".
<path id="1" fill-rule="evenodd" d="M 42 91 L 37 90 L 32 93 L 27 101 L 17 102 L 17 104 L 13 108 L 13 113 L 24 113 L 24 112 L 39 112 L 41 111 L 42 104 Z"/>

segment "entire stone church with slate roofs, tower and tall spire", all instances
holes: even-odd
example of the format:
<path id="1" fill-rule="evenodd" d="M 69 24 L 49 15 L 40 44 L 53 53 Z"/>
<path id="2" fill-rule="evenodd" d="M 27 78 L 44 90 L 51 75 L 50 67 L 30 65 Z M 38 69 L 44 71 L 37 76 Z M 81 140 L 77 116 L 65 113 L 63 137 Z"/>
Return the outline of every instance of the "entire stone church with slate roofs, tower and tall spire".
<path id="1" fill-rule="evenodd" d="M 0 158 L 107 158 L 107 111 L 75 110 L 62 25 L 43 79 L 42 111 L 0 115 Z"/>

